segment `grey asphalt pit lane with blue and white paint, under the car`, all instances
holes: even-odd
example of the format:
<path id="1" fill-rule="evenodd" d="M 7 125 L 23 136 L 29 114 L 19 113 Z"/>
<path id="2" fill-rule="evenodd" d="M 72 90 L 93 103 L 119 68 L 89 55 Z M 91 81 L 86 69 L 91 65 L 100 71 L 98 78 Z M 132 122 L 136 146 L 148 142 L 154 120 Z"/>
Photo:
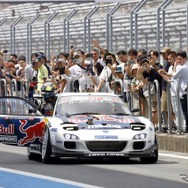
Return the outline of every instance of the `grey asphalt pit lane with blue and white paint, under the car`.
<path id="1" fill-rule="evenodd" d="M 4 183 L 5 182 L 5 183 Z M 32 184 L 33 183 L 33 184 Z M 160 151 L 156 164 L 137 159 L 30 161 L 26 148 L 0 144 L 0 188 L 187 188 L 188 154 Z"/>

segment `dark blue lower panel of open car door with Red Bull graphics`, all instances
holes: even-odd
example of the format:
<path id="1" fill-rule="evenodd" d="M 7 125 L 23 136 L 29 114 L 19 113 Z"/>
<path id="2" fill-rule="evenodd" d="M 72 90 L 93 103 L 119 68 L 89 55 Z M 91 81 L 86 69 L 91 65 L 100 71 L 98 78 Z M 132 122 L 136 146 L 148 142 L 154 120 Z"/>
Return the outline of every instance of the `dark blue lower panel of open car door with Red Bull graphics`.
<path id="1" fill-rule="evenodd" d="M 41 117 L 0 117 L 0 142 L 19 146 L 41 144 L 44 126 Z"/>

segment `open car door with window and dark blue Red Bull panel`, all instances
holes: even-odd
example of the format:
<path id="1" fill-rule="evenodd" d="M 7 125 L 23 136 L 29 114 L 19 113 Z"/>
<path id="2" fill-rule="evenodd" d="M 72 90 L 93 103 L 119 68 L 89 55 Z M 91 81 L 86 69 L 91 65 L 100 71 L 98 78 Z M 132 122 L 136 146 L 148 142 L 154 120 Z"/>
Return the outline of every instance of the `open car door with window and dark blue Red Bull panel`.
<path id="1" fill-rule="evenodd" d="M 0 142 L 41 145 L 44 126 L 44 117 L 25 99 L 0 97 Z"/>

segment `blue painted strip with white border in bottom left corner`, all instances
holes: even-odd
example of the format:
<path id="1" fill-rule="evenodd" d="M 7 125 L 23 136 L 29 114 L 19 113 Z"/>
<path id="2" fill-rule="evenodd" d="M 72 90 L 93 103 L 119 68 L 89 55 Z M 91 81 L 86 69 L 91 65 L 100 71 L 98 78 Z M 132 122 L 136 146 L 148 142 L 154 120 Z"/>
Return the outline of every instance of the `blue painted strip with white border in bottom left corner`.
<path id="1" fill-rule="evenodd" d="M 4 172 L 4 174 L 3 174 Z M 7 181 L 7 175 L 12 178 Z M 43 175 L 38 175 L 30 172 L 24 172 L 24 171 L 19 171 L 19 170 L 13 170 L 13 169 L 8 169 L 8 168 L 1 168 L 0 167 L 0 176 L 6 176 L 5 182 L 3 182 L 3 179 L 0 181 L 0 184 L 5 184 L 3 186 L 5 187 L 0 187 L 0 188 L 10 188 L 10 184 L 14 185 L 14 188 L 16 188 L 16 183 L 19 182 L 18 187 L 19 188 L 25 188 L 24 185 L 24 180 L 28 184 L 29 182 L 28 179 L 30 179 L 30 183 L 34 184 L 35 188 L 41 187 L 41 184 L 46 184 L 51 187 L 56 187 L 56 188 L 102 188 L 98 186 L 93 186 L 89 184 L 84 184 L 84 183 L 79 183 L 79 182 L 74 182 L 70 180 L 65 180 L 65 179 L 60 179 L 60 178 L 54 178 L 54 177 L 49 177 L 49 176 L 43 176 Z M 17 177 L 19 176 L 19 177 Z M 17 177 L 17 179 L 16 179 Z M 35 183 L 36 182 L 36 183 Z M 15 183 L 15 184 L 14 184 Z M 22 186 L 23 183 L 23 186 Z M 39 183 L 39 184 L 38 184 Z M 41 184 L 40 184 L 41 183 Z M 29 186 L 29 184 L 28 184 Z M 48 186 L 47 186 L 48 187 Z"/>

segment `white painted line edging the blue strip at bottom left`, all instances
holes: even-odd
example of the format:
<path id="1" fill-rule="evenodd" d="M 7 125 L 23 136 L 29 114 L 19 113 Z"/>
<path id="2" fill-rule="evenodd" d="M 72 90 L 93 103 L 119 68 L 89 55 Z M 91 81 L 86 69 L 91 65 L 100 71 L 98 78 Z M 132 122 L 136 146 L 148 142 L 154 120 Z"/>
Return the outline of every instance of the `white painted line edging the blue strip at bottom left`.
<path id="1" fill-rule="evenodd" d="M 12 169 L 8 169 L 8 168 L 0 167 L 0 170 L 5 171 L 5 172 L 20 174 L 20 175 L 24 175 L 24 176 L 40 178 L 40 179 L 44 179 L 44 180 L 48 180 L 48 181 L 54 181 L 54 182 L 58 182 L 58 183 L 66 183 L 66 184 L 70 184 L 70 185 L 80 186 L 83 188 L 102 188 L 102 187 L 88 185 L 88 184 L 84 184 L 84 183 L 69 181 L 69 180 L 60 179 L 60 178 L 53 178 L 53 177 L 49 177 L 49 176 L 43 176 L 43 175 L 33 174 L 30 172 L 24 172 L 24 171 L 19 171 L 19 170 L 12 170 Z M 4 187 L 0 187 L 0 188 L 4 188 Z"/>

